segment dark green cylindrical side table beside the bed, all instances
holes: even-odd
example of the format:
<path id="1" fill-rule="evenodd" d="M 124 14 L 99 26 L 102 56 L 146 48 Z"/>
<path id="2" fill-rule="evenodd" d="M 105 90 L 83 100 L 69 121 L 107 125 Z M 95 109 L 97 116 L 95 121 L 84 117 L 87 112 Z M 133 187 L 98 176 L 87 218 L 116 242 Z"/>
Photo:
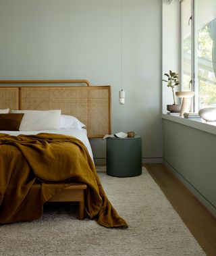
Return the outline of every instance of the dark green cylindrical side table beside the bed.
<path id="1" fill-rule="evenodd" d="M 141 137 L 107 138 L 107 174 L 116 177 L 132 177 L 141 173 Z"/>

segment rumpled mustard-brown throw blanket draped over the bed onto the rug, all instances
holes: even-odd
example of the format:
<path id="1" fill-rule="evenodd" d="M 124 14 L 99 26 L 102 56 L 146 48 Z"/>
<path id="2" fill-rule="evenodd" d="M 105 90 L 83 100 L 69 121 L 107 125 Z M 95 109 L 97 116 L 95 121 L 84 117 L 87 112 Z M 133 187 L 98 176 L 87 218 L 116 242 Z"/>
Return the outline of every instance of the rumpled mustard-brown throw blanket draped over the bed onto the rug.
<path id="1" fill-rule="evenodd" d="M 46 184 L 62 187 L 46 189 Z M 87 184 L 85 210 L 105 227 L 127 227 L 107 199 L 83 143 L 59 134 L 0 134 L 0 223 L 32 221 L 65 186 Z M 52 186 L 53 187 L 53 186 Z"/>

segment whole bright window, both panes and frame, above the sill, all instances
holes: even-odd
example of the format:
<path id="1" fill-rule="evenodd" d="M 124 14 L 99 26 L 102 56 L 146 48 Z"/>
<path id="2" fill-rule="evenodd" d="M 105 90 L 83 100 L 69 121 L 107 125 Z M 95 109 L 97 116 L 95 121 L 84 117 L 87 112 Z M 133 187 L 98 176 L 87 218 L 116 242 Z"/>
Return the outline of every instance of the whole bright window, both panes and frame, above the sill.
<path id="1" fill-rule="evenodd" d="M 182 91 L 195 91 L 193 111 L 216 107 L 216 0 L 182 0 L 180 10 Z"/>

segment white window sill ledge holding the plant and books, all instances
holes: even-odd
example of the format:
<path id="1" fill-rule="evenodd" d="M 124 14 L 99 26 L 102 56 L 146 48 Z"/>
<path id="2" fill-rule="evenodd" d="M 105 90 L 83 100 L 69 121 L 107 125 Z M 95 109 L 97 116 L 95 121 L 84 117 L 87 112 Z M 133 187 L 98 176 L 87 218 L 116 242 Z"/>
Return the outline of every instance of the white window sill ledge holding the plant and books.
<path id="1" fill-rule="evenodd" d="M 198 130 L 216 134 L 216 122 L 200 122 L 196 120 L 186 119 L 180 116 L 170 116 L 165 113 L 162 114 L 162 118 L 171 122 L 176 122 Z"/>

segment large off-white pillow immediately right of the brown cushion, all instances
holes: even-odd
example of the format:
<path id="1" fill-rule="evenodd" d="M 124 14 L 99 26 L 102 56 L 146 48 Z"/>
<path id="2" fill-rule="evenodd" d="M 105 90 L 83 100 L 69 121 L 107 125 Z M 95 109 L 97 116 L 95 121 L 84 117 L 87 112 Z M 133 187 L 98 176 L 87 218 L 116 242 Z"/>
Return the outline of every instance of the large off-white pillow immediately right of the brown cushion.
<path id="1" fill-rule="evenodd" d="M 61 110 L 12 110 L 24 113 L 20 130 L 59 130 Z"/>

